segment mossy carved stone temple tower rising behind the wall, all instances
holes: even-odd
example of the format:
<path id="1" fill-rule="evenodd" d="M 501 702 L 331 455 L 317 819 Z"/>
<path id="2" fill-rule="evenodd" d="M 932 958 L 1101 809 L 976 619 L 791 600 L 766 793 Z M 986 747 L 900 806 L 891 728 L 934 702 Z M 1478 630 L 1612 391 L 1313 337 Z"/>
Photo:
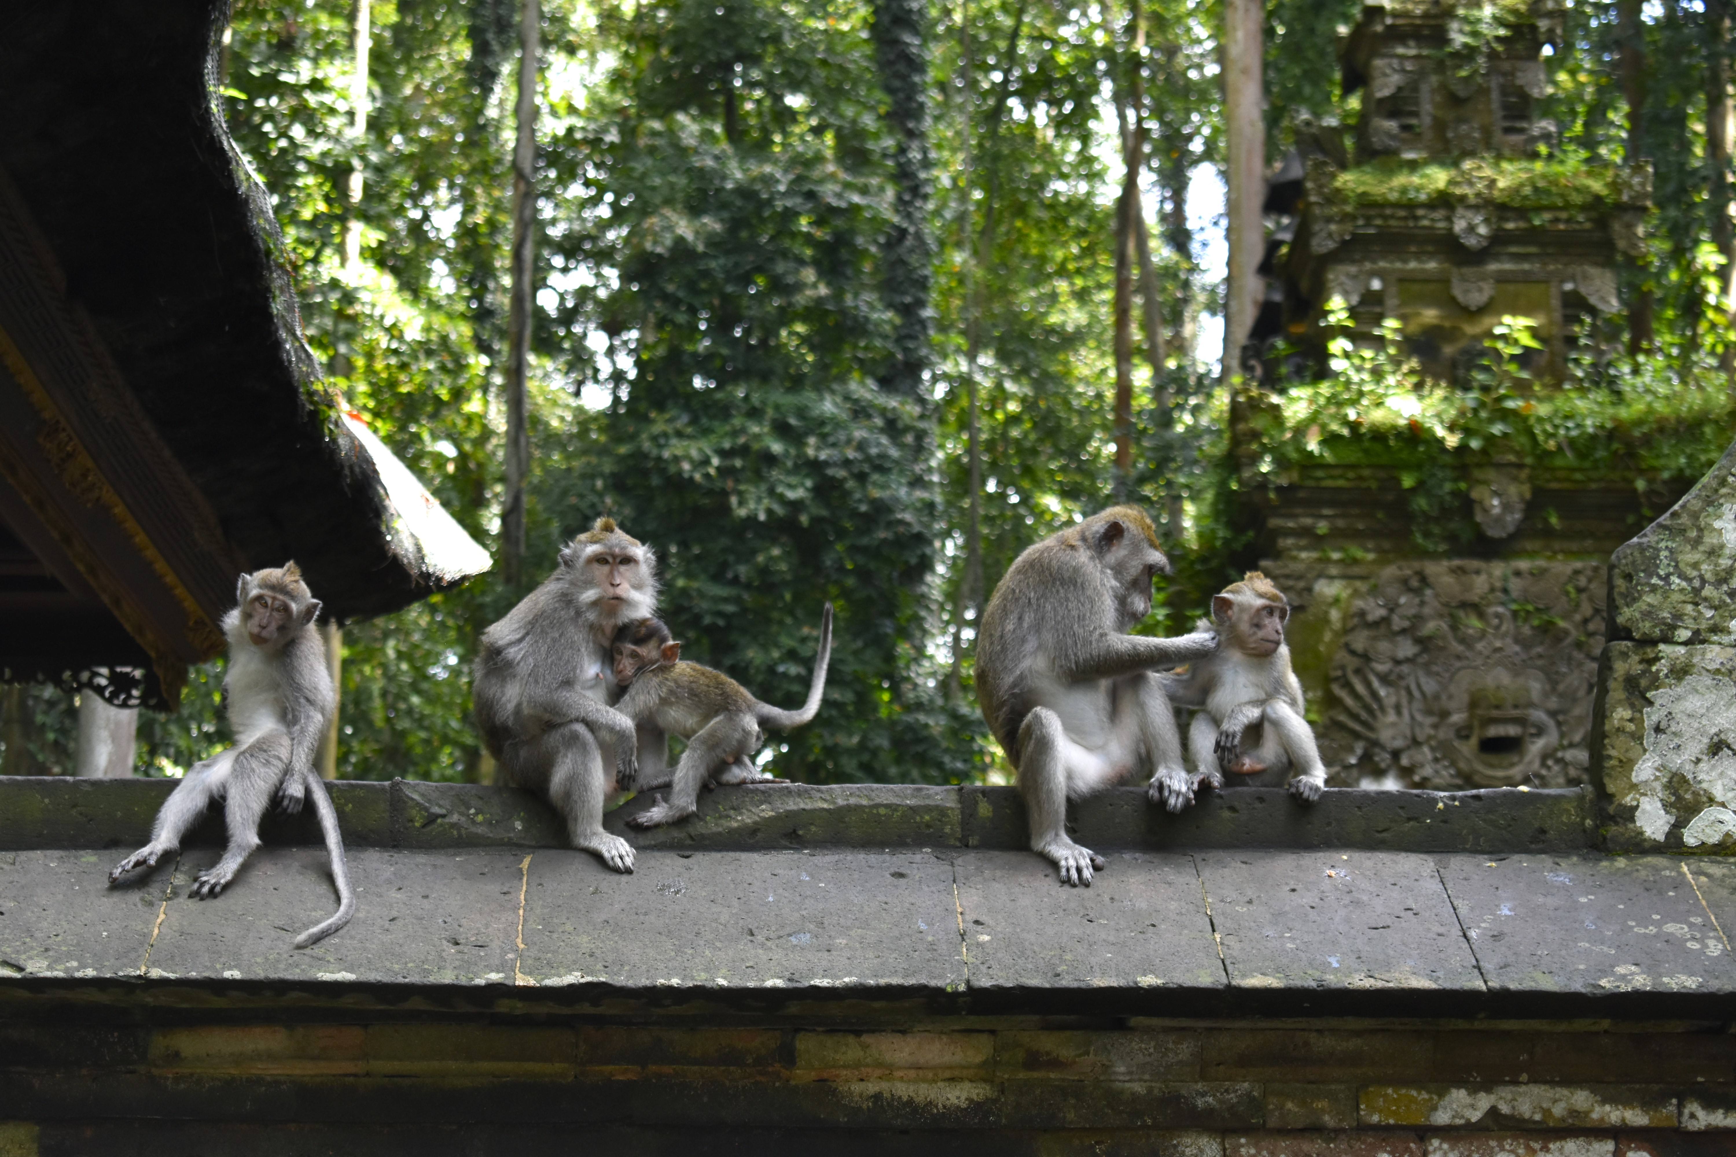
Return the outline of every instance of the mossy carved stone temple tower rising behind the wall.
<path id="1" fill-rule="evenodd" d="M 1415 472 L 1274 468 L 1250 422 L 1285 380 L 1326 373 L 1332 298 L 1356 342 L 1396 319 L 1444 380 L 1509 314 L 1535 321 L 1540 389 L 1562 389 L 1575 342 L 1620 337 L 1616 269 L 1639 252 L 1651 172 L 1547 156 L 1543 49 L 1561 16 L 1555 0 L 1364 7 L 1342 45 L 1352 139 L 1300 116 L 1271 180 L 1246 357 L 1264 389 L 1236 402 L 1238 498 L 1246 562 L 1297 605 L 1297 673 L 1338 786 L 1585 782 L 1606 560 L 1677 496 L 1491 451 L 1443 463 L 1444 512 L 1418 515 Z M 1429 522 L 1463 533 L 1443 550 Z"/>

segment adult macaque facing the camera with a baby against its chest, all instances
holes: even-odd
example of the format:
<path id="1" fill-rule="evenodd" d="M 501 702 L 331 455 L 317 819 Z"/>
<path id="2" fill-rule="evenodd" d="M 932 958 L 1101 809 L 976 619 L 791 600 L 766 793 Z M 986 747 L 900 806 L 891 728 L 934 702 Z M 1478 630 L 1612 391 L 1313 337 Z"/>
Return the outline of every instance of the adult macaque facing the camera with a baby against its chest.
<path id="1" fill-rule="evenodd" d="M 476 722 L 490 755 L 561 812 L 575 848 L 618 873 L 634 869 L 634 848 L 602 831 L 606 768 L 632 788 L 641 749 L 634 722 L 609 706 L 609 644 L 621 623 L 653 614 L 656 555 L 613 519 L 597 519 L 542 586 L 483 631 L 476 659 Z"/>

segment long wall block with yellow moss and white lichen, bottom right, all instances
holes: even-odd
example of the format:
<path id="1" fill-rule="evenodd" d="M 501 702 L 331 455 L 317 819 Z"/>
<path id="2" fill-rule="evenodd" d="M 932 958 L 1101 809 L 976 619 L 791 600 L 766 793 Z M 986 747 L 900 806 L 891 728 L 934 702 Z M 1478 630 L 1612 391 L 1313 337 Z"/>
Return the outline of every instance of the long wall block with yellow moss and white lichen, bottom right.
<path id="1" fill-rule="evenodd" d="M 1675 1093 L 1647 1084 L 1368 1084 L 1368 1126 L 1474 1126 L 1486 1117 L 1540 1129 L 1674 1129 Z"/>

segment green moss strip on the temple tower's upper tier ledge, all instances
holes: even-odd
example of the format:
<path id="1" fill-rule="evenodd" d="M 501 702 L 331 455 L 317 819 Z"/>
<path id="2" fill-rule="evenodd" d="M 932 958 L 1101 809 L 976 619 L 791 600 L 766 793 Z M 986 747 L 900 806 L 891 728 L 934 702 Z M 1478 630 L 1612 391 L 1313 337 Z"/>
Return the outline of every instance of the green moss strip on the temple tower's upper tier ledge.
<path id="1" fill-rule="evenodd" d="M 1507 205 L 1512 208 L 1611 208 L 1635 201 L 1634 172 L 1564 160 L 1418 163 L 1382 158 L 1332 182 L 1335 205 Z"/>

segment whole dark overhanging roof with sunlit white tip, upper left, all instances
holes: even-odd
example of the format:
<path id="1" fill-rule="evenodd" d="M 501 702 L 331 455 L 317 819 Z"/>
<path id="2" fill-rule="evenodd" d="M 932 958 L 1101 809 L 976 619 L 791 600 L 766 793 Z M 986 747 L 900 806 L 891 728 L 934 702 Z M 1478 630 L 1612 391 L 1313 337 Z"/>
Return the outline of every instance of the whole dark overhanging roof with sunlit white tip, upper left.
<path id="1" fill-rule="evenodd" d="M 488 553 L 307 349 L 271 198 L 224 125 L 224 0 L 0 26 L 0 678 L 175 701 L 240 571 L 337 619 Z M 139 671 L 153 671 L 146 685 Z M 165 694 L 167 692 L 167 694 Z"/>

